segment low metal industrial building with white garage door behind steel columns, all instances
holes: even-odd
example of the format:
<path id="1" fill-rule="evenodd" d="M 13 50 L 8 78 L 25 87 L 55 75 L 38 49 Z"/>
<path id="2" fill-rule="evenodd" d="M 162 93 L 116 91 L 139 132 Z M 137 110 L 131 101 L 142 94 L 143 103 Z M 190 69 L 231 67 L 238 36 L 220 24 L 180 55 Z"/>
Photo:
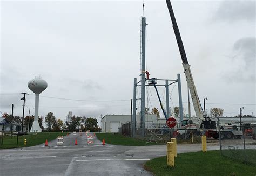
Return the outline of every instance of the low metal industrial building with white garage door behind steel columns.
<path id="1" fill-rule="evenodd" d="M 131 115 L 105 115 L 101 119 L 102 132 L 118 132 L 124 123 L 131 123 Z M 136 126 L 140 125 L 140 115 L 136 115 Z M 158 128 L 165 125 L 165 118 L 158 118 L 155 114 L 145 114 L 145 128 Z"/>

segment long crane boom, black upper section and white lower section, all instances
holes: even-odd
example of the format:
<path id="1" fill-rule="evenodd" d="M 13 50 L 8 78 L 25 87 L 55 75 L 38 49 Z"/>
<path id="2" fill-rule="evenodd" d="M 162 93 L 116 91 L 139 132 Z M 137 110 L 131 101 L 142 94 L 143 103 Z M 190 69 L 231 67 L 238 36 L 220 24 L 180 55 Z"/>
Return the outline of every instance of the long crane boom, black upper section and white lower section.
<path id="1" fill-rule="evenodd" d="M 186 81 L 187 81 L 187 85 L 188 88 L 190 89 L 190 94 L 191 94 L 191 98 L 192 98 L 192 102 L 193 102 L 193 106 L 194 106 L 194 111 L 196 112 L 199 124 L 203 121 L 204 118 L 204 114 L 203 114 L 203 108 L 201 107 L 201 103 L 199 101 L 199 97 L 197 94 L 197 90 L 196 90 L 196 86 L 194 85 L 194 80 L 192 77 L 192 73 L 190 70 L 190 65 L 188 64 L 187 61 L 187 56 L 186 56 L 186 52 L 183 46 L 183 42 L 181 40 L 181 36 L 179 33 L 179 28 L 178 25 L 176 23 L 176 19 L 174 16 L 174 12 L 172 10 L 172 4 L 170 0 L 166 0 L 166 4 L 167 7 L 169 9 L 169 13 L 171 16 L 171 20 L 172 20 L 172 27 L 175 33 L 175 37 L 177 40 L 177 44 L 179 47 L 179 52 L 180 52 L 180 56 L 181 56 L 181 60 L 182 60 L 182 64 L 183 64 L 183 68 L 184 68 L 184 73 L 186 75 Z"/>

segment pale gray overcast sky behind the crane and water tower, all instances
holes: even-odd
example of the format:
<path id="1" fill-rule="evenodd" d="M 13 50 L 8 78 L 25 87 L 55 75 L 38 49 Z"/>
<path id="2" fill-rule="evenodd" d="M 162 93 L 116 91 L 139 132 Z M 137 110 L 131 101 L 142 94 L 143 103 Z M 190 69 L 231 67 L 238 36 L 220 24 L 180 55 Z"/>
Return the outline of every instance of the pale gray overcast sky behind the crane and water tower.
<path id="1" fill-rule="evenodd" d="M 100 114 L 130 114 L 133 78 L 139 80 L 140 72 L 142 3 L 1 1 L 0 111 L 10 113 L 13 103 L 14 115 L 22 116 L 19 93 L 26 92 L 25 115 L 29 109 L 32 115 L 35 94 L 28 81 L 39 75 L 48 82 L 39 116 L 49 111 L 62 119 L 69 111 L 98 119 Z M 207 97 L 206 109 L 223 108 L 224 116 L 238 115 L 240 107 L 255 115 L 255 1 L 172 1 L 172 6 L 201 103 Z M 146 69 L 159 79 L 181 74 L 188 113 L 166 2 L 145 1 L 144 17 L 149 24 Z M 169 89 L 173 108 L 178 88 Z M 160 109 L 153 87 L 147 93 L 146 106 Z M 164 89 L 159 93 L 165 104 Z"/>

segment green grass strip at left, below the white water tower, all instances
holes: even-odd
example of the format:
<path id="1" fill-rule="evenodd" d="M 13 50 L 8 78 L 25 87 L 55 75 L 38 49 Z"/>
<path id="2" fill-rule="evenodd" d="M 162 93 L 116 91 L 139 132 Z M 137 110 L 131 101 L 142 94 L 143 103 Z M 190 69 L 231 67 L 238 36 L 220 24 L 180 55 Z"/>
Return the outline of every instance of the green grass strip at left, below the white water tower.
<path id="1" fill-rule="evenodd" d="M 42 143 L 45 143 L 45 140 L 48 141 L 56 139 L 57 136 L 64 136 L 65 133 L 61 132 L 38 132 L 37 135 L 35 133 L 29 134 L 29 135 L 23 135 L 19 136 L 18 139 L 18 146 L 17 144 L 17 136 L 4 136 L 3 138 L 3 146 L 1 146 L 2 137 L 0 137 L 0 149 L 10 149 L 10 148 L 17 148 L 17 147 L 28 147 L 28 146 L 34 146 L 39 145 Z M 24 139 L 26 139 L 27 143 L 24 145 Z"/>

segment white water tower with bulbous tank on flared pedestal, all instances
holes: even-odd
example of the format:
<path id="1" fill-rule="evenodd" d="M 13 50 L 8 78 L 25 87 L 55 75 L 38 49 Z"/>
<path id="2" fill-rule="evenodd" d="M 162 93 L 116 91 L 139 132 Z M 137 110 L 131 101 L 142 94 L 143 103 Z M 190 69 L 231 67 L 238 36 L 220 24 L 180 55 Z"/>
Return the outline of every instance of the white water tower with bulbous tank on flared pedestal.
<path id="1" fill-rule="evenodd" d="M 38 106 L 39 106 L 39 94 L 47 88 L 47 82 L 42 80 L 40 77 L 35 77 L 28 83 L 28 87 L 30 90 L 33 91 L 36 95 L 35 101 L 35 119 L 33 125 L 30 129 L 30 132 L 42 132 L 39 123 L 38 123 Z"/>

